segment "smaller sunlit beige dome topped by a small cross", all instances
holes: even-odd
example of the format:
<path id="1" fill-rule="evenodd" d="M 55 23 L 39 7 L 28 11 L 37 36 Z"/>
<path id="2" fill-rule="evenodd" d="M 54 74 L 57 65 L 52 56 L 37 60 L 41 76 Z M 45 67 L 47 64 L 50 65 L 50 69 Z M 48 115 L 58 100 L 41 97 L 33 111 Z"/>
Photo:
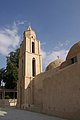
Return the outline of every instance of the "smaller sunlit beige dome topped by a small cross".
<path id="1" fill-rule="evenodd" d="M 62 59 L 57 59 L 57 60 L 51 62 L 51 63 L 46 67 L 46 71 L 59 67 L 63 62 L 64 62 L 64 60 L 62 60 Z"/>

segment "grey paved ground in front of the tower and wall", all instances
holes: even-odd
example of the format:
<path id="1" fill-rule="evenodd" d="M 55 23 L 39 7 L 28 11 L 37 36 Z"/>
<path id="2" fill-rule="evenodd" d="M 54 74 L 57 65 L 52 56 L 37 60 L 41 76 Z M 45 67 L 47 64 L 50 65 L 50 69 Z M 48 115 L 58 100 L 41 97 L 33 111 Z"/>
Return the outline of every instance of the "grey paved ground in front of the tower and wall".
<path id="1" fill-rule="evenodd" d="M 63 120 L 44 114 L 19 110 L 16 108 L 4 107 L 0 108 L 0 120 Z"/>

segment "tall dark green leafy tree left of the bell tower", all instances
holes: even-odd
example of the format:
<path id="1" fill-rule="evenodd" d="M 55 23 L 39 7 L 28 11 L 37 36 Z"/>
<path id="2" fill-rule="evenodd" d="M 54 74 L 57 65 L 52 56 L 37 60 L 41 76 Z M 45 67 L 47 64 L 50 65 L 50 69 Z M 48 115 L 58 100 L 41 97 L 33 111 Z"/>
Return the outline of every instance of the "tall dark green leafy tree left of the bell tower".
<path id="1" fill-rule="evenodd" d="M 15 52 L 10 52 L 9 55 L 7 56 L 6 82 L 5 82 L 5 88 L 7 89 L 14 89 L 17 87 L 19 51 L 20 49 L 18 48 Z"/>

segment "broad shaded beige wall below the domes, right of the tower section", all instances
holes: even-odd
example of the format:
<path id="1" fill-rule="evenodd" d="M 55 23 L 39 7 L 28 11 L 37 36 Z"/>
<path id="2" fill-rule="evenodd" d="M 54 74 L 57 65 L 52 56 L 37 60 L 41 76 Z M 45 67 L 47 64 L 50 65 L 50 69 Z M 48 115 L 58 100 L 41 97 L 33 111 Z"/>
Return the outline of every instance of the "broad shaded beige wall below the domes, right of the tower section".
<path id="1" fill-rule="evenodd" d="M 80 62 L 48 73 L 43 80 L 43 112 L 65 118 L 80 114 Z"/>

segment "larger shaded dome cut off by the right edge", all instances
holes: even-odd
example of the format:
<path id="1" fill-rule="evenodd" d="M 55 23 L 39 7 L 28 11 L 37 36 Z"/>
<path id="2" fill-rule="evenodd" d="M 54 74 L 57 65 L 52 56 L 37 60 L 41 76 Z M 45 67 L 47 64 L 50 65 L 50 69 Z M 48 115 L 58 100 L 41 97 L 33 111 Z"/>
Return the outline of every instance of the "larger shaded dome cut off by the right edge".
<path id="1" fill-rule="evenodd" d="M 80 41 L 74 44 L 70 51 L 68 52 L 68 55 L 66 57 L 66 60 L 71 59 L 75 57 L 78 53 L 80 53 Z"/>

